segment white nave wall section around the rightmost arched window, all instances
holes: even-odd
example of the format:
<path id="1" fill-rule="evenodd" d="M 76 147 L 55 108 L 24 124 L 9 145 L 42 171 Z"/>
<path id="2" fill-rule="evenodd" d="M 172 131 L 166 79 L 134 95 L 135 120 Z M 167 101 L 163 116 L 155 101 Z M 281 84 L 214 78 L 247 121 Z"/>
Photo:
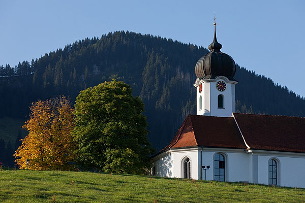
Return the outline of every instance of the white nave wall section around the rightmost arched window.
<path id="1" fill-rule="evenodd" d="M 285 152 L 254 152 L 258 157 L 258 183 L 268 184 L 268 166 L 270 159 L 278 164 L 278 185 L 305 188 L 305 155 Z"/>

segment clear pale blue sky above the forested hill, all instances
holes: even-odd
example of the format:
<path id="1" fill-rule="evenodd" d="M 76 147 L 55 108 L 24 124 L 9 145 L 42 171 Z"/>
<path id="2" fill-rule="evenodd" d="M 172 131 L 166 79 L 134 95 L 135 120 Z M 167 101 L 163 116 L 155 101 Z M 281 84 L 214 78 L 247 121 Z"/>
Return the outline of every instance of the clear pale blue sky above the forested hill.
<path id="1" fill-rule="evenodd" d="M 248 70 L 305 96 L 304 11 L 303 0 L 1 1 L 0 64 L 14 66 L 76 40 L 117 30 L 207 48 L 216 12 L 223 52 Z"/>

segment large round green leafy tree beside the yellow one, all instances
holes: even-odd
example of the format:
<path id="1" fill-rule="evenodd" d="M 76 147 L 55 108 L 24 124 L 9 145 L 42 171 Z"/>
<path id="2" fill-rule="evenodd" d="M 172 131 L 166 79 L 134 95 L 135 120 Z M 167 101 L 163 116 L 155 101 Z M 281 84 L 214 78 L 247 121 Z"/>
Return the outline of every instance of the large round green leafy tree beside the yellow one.
<path id="1" fill-rule="evenodd" d="M 124 82 L 112 80 L 80 91 L 73 130 L 78 162 L 104 172 L 145 173 L 154 149 L 143 112 L 143 102 Z"/>

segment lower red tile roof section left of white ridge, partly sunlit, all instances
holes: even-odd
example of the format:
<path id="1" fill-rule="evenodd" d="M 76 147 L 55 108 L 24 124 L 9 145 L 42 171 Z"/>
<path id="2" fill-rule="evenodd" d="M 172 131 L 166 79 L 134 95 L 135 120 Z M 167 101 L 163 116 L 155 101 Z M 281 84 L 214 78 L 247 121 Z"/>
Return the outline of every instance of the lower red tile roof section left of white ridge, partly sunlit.
<path id="1" fill-rule="evenodd" d="M 247 148 L 234 118 L 188 115 L 170 144 L 161 151 L 195 146 Z"/>

